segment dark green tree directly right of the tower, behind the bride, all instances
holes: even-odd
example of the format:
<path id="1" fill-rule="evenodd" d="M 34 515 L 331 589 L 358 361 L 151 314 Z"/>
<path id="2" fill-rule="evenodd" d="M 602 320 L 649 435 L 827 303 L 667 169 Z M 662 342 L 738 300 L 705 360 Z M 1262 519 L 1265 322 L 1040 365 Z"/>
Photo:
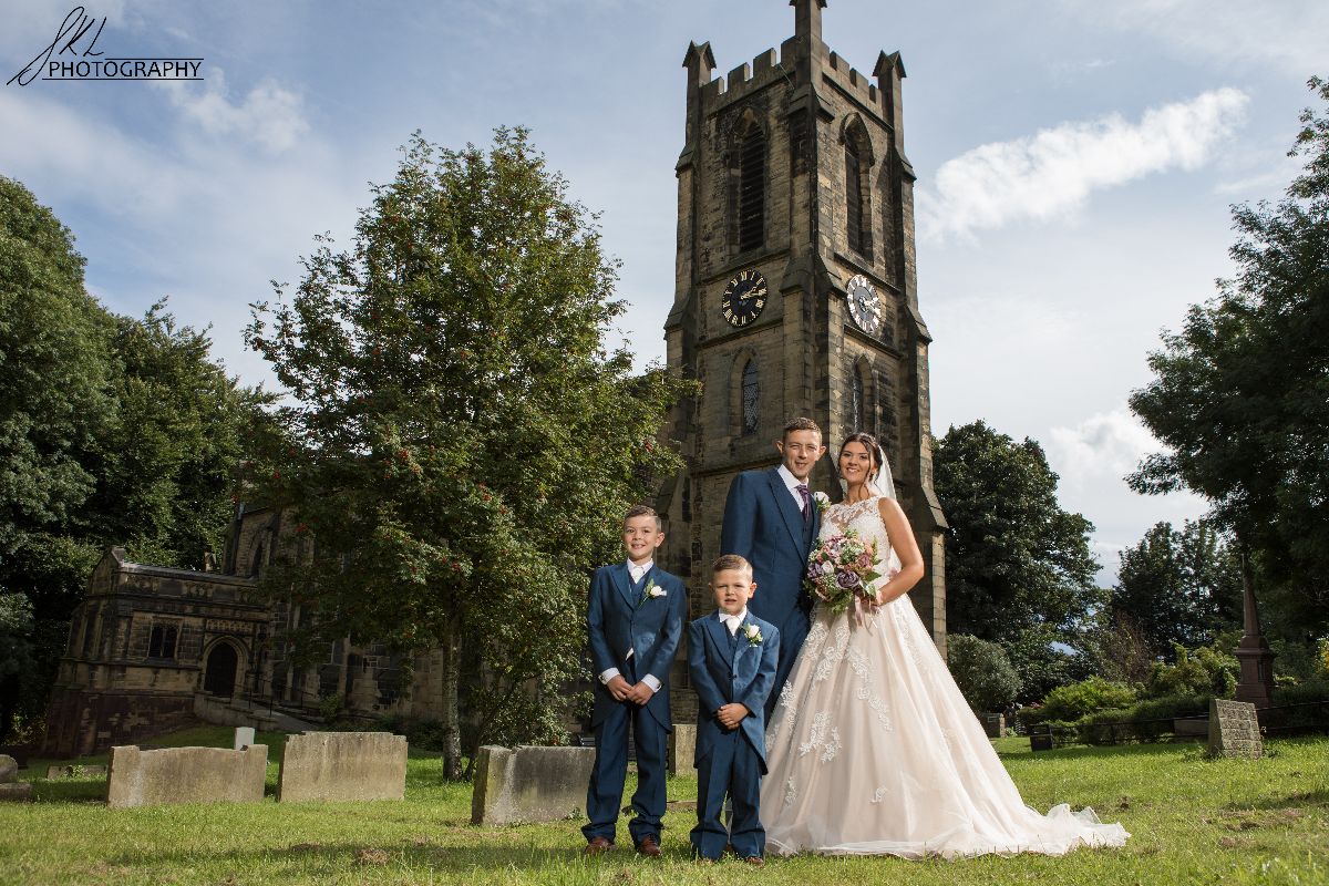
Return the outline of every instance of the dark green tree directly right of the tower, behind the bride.
<path id="1" fill-rule="evenodd" d="M 1062 510 L 1042 448 L 983 421 L 950 428 L 933 478 L 950 522 L 948 630 L 1001 644 L 1023 680 L 1022 701 L 1084 676 L 1090 658 L 1080 651 L 1103 604 L 1094 526 Z"/>

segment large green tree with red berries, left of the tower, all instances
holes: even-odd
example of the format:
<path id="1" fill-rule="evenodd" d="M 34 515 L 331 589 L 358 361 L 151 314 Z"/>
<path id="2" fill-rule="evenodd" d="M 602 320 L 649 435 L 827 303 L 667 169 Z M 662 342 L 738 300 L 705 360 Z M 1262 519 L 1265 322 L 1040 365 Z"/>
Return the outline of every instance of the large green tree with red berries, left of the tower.
<path id="1" fill-rule="evenodd" d="M 267 586 L 315 602 L 326 638 L 443 650 L 448 777 L 462 716 L 476 744 L 562 740 L 587 574 L 676 469 L 655 434 L 684 391 L 609 349 L 623 306 L 594 217 L 525 130 L 417 133 L 351 248 L 306 268 L 246 333 L 291 396 L 256 494 L 316 539 Z"/>

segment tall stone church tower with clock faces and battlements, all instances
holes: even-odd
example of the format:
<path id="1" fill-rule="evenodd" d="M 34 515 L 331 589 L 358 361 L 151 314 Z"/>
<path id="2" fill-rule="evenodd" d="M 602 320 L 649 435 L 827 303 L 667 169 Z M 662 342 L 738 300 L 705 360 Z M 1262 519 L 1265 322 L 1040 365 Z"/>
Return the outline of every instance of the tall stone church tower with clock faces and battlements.
<path id="1" fill-rule="evenodd" d="M 928 567 L 909 596 L 944 648 L 946 523 L 932 487 L 932 336 L 918 312 L 905 68 L 882 52 L 869 82 L 821 41 L 825 0 L 789 5 L 793 37 L 779 58 L 768 49 L 727 77 L 714 77 L 708 43 L 683 58 L 664 337 L 670 368 L 702 393 L 666 428 L 686 469 L 661 494 L 663 565 L 687 579 L 694 615 L 706 611 L 734 476 L 779 464 L 772 441 L 808 416 L 829 446 L 812 486 L 839 499 L 839 442 L 867 430 L 886 452 Z"/>

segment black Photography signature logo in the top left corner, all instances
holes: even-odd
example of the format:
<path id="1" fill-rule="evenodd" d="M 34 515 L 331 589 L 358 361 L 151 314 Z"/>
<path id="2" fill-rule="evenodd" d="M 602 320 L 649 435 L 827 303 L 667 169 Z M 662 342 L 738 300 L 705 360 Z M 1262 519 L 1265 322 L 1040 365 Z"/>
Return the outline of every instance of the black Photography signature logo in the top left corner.
<path id="1" fill-rule="evenodd" d="M 106 19 L 94 19 L 84 7 L 74 7 L 60 23 L 51 45 L 9 77 L 5 86 L 27 86 L 33 80 L 203 80 L 198 76 L 202 58 L 109 57 L 96 52 Z"/>

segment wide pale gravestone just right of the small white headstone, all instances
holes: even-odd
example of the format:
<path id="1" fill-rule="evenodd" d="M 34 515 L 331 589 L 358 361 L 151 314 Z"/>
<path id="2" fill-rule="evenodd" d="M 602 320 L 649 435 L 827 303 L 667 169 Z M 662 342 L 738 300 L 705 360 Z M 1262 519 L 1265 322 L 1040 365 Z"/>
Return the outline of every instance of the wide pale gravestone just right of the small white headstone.
<path id="1" fill-rule="evenodd" d="M 306 732 L 286 740 L 279 802 L 404 800 L 407 739 L 391 732 Z"/>

